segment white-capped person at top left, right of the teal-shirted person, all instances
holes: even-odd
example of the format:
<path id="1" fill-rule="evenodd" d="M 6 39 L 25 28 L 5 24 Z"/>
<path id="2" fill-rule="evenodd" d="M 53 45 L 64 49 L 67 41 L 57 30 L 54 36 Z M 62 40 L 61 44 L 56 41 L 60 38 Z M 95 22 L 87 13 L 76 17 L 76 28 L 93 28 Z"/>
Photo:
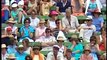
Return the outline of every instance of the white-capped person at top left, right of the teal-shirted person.
<path id="1" fill-rule="evenodd" d="M 24 21 L 24 19 L 25 19 L 25 17 L 27 16 L 27 13 L 23 10 L 23 8 L 24 8 L 24 1 L 19 1 L 18 2 L 18 11 L 19 11 L 19 14 L 18 14 L 18 16 L 19 16 L 19 20 L 18 20 L 18 22 L 19 23 L 22 23 L 23 24 L 23 21 Z"/>

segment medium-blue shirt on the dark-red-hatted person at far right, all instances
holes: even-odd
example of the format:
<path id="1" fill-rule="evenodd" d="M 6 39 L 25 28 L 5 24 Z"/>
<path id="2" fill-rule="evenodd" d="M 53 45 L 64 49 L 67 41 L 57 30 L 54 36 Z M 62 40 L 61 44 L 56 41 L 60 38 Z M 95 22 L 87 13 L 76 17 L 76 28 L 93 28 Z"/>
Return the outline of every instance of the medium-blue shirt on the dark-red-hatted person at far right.
<path id="1" fill-rule="evenodd" d="M 102 17 L 98 17 L 98 18 L 94 18 L 93 17 L 93 25 L 95 25 L 95 27 L 96 27 L 96 31 L 97 32 L 100 32 L 100 30 L 101 30 L 101 23 L 103 23 L 104 22 L 104 19 L 102 18 Z"/>

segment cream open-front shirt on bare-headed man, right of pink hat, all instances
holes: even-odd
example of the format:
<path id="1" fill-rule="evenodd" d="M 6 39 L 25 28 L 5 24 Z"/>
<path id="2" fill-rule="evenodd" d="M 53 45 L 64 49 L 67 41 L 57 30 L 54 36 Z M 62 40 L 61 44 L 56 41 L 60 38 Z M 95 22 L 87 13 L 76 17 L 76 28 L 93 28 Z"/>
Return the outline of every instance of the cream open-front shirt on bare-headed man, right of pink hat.
<path id="1" fill-rule="evenodd" d="M 77 17 L 71 15 L 70 24 L 69 24 L 68 19 L 65 16 L 65 17 L 62 18 L 62 25 L 63 25 L 64 28 L 75 30 L 79 26 L 79 23 L 78 23 Z"/>

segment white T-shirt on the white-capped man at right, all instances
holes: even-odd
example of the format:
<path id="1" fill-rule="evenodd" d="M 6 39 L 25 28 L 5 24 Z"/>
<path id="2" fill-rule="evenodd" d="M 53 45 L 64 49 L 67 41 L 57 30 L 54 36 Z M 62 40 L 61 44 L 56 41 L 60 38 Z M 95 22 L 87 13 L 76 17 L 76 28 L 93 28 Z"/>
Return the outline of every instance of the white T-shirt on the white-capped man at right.
<path id="1" fill-rule="evenodd" d="M 92 30 L 84 29 L 84 31 L 83 31 L 83 39 L 85 39 L 85 40 L 90 40 L 90 37 L 92 36 L 93 32 L 96 31 L 95 25 L 87 26 L 87 24 L 81 24 L 80 27 L 81 28 L 89 28 L 89 27 L 92 28 Z"/>

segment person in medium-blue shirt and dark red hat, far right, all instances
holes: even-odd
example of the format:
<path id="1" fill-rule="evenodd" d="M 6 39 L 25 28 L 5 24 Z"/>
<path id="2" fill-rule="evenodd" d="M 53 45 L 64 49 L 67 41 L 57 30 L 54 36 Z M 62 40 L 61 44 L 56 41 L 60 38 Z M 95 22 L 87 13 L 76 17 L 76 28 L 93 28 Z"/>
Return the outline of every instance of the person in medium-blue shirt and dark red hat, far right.
<path id="1" fill-rule="evenodd" d="M 104 26 L 104 19 L 103 17 L 100 16 L 101 12 L 98 11 L 94 11 L 93 12 L 93 19 L 92 19 L 92 23 L 93 25 L 95 25 L 96 27 L 96 37 L 97 37 L 97 42 L 98 44 L 100 43 L 100 36 L 97 35 L 98 33 L 100 33 L 101 28 Z"/>

